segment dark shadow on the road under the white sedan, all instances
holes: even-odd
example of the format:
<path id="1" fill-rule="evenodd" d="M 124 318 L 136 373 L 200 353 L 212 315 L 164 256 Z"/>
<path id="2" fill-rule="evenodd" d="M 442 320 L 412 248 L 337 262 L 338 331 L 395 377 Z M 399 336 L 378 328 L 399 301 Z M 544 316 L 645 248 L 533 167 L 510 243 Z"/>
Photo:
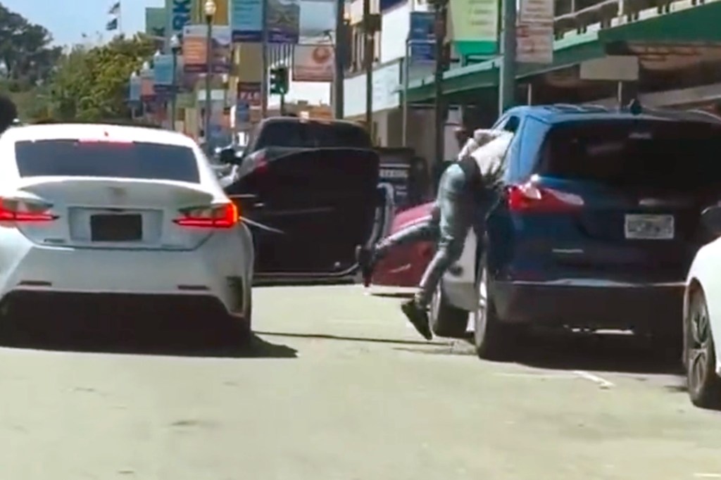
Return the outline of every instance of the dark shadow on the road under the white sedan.
<path id="1" fill-rule="evenodd" d="M 296 358 L 297 350 L 244 337 L 231 321 L 96 317 L 62 321 L 25 321 L 4 325 L 0 346 L 60 352 L 113 353 L 216 358 Z"/>

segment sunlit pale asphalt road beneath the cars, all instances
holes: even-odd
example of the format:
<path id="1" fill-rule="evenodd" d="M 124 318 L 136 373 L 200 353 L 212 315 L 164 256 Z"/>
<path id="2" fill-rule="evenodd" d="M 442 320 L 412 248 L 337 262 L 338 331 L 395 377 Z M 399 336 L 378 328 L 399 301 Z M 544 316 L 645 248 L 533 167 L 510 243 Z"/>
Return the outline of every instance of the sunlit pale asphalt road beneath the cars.
<path id="1" fill-rule="evenodd" d="M 258 288 L 251 349 L 172 332 L 5 347 L 2 476 L 721 478 L 721 414 L 643 345 L 539 339 L 521 363 L 482 362 L 420 341 L 397 303 Z"/>

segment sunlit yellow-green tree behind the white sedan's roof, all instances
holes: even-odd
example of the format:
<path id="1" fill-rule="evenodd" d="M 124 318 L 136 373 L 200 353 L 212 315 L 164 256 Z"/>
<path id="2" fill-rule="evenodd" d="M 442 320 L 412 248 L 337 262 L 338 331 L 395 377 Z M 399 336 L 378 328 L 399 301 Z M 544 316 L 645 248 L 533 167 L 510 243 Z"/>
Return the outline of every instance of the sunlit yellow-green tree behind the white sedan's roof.
<path id="1" fill-rule="evenodd" d="M 128 117 L 128 79 L 154 50 L 149 37 L 120 35 L 105 45 L 78 46 L 63 55 L 50 86 L 53 117 L 87 121 Z"/>

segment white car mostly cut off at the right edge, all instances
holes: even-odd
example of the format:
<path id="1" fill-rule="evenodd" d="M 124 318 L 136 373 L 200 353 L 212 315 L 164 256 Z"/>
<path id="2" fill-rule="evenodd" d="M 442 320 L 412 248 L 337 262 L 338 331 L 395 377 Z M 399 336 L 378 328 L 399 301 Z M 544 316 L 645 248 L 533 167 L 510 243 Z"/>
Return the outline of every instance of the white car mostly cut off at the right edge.
<path id="1" fill-rule="evenodd" d="M 691 263 L 684 295 L 684 367 L 691 402 L 721 409 L 721 204 L 702 213 L 718 236 Z"/>

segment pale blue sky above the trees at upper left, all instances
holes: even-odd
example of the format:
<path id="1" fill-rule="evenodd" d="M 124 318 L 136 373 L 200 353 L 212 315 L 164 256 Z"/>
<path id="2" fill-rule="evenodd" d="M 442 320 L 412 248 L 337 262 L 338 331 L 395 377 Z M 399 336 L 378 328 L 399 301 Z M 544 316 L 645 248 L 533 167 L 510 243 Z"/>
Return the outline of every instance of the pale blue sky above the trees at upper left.
<path id="1" fill-rule="evenodd" d="M 84 43 L 87 40 L 82 34 L 96 40 L 97 32 L 105 39 L 117 33 L 105 31 L 112 0 L 1 0 L 1 3 L 30 22 L 47 28 L 56 45 Z M 131 34 L 143 30 L 145 7 L 163 5 L 163 0 L 123 0 L 123 32 Z"/>

